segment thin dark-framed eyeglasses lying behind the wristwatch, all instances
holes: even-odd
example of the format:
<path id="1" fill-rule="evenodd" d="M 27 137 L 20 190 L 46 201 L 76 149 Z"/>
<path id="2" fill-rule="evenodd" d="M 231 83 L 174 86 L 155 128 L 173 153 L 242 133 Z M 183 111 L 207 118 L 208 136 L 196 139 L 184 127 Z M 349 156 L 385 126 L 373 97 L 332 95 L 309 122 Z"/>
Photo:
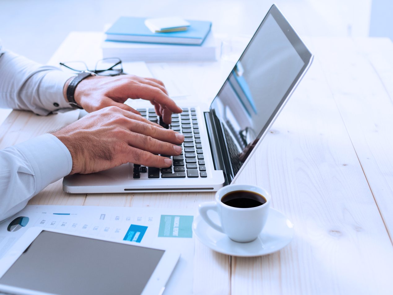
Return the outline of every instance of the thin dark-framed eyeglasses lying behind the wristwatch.
<path id="1" fill-rule="evenodd" d="M 89 71 L 99 76 L 118 76 L 124 74 L 123 66 L 121 65 L 121 59 L 119 58 L 100 59 L 95 64 L 95 70 L 89 70 L 88 66 L 83 61 L 70 61 L 66 63 L 60 63 L 60 65 L 77 73 Z"/>

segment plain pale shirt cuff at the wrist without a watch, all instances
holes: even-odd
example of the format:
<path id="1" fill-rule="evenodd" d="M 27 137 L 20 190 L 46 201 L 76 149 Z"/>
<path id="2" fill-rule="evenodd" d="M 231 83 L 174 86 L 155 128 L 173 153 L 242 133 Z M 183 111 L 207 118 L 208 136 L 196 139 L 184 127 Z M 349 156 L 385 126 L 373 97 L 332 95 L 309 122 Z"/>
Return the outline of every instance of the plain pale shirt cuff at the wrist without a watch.
<path id="1" fill-rule="evenodd" d="M 34 195 L 71 172 L 70 151 L 52 134 L 40 135 L 15 147 L 26 157 L 33 169 L 37 185 Z"/>

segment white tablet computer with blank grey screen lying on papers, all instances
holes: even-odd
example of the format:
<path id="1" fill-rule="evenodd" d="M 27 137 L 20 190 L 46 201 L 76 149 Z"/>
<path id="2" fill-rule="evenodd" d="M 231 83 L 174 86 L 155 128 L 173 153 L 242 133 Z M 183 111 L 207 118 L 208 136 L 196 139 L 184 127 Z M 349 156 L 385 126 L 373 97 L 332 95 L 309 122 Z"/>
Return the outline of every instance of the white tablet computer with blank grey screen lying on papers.
<path id="1" fill-rule="evenodd" d="M 0 291 L 161 294 L 180 253 L 32 227 L 0 260 Z"/>

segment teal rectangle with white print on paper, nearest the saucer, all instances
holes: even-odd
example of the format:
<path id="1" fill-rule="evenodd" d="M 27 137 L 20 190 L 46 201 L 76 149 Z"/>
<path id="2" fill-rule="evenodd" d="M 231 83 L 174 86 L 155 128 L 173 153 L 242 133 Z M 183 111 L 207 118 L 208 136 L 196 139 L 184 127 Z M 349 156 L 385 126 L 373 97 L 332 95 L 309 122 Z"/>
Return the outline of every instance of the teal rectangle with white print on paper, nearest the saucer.
<path id="1" fill-rule="evenodd" d="M 161 215 L 159 237 L 192 238 L 194 216 Z"/>

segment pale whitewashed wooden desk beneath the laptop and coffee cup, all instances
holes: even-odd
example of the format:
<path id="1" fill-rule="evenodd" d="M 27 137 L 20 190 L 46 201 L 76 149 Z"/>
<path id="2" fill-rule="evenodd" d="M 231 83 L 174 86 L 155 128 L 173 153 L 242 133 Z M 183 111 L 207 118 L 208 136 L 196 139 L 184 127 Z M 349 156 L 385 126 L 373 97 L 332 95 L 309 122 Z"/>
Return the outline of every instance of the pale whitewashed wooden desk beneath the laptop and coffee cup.
<path id="1" fill-rule="evenodd" d="M 99 59 L 98 33 L 72 33 L 49 63 Z M 393 290 L 393 44 L 389 39 L 306 39 L 316 58 L 238 183 L 263 186 L 295 225 L 281 251 L 236 258 L 195 240 L 195 294 L 391 294 Z M 149 64 L 196 97 L 215 96 L 233 63 Z M 165 71 L 163 68 L 165 67 Z M 13 111 L 0 148 L 77 119 Z M 213 193 L 69 195 L 61 181 L 41 205 L 195 208 Z"/>

